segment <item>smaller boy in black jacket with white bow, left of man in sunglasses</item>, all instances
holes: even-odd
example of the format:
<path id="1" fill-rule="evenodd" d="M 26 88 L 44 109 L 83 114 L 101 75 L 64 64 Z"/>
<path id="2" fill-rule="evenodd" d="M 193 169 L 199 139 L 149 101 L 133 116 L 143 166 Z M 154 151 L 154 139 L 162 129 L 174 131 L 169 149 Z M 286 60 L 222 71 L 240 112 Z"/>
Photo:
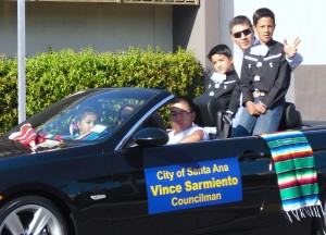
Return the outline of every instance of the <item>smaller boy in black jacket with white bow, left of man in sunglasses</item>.
<path id="1" fill-rule="evenodd" d="M 205 76 L 204 95 L 214 96 L 229 118 L 237 112 L 240 103 L 240 81 L 234 67 L 231 50 L 226 45 L 217 45 L 211 49 L 208 58 L 212 62 L 215 73 Z"/>

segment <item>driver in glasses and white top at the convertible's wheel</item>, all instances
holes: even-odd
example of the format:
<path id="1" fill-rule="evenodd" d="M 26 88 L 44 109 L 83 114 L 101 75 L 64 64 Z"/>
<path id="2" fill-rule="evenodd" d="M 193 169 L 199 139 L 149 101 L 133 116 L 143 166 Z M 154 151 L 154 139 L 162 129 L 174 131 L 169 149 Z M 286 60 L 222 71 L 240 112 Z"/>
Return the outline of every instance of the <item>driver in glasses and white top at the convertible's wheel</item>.
<path id="1" fill-rule="evenodd" d="M 170 103 L 172 131 L 168 133 L 167 145 L 209 139 L 209 134 L 193 124 L 195 118 L 192 99 L 186 96 L 175 97 Z"/>

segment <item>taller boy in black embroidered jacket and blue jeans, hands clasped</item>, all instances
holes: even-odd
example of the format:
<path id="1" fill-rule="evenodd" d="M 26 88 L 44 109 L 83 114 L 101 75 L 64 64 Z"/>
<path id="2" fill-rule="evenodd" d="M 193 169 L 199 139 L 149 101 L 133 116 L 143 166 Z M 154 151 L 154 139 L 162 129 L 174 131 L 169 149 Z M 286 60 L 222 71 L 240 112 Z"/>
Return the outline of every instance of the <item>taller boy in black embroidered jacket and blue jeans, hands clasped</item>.
<path id="1" fill-rule="evenodd" d="M 259 45 L 244 51 L 241 66 L 242 106 L 234 136 L 272 133 L 278 129 L 290 86 L 291 67 L 284 45 L 273 39 L 275 15 L 266 8 L 253 14 Z"/>

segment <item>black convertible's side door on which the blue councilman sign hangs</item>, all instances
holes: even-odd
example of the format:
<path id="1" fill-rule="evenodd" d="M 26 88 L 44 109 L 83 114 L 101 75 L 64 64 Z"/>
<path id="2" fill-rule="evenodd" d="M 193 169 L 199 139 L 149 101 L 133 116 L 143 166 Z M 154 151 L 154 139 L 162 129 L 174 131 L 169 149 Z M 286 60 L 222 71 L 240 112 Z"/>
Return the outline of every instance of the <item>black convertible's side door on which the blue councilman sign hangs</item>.
<path id="1" fill-rule="evenodd" d="M 149 170 L 161 168 L 161 172 L 166 173 L 173 166 L 211 164 L 212 161 L 227 165 L 235 159 L 241 175 L 238 178 L 240 193 L 236 193 L 241 194 L 240 199 L 228 200 L 234 196 L 225 193 L 226 200 L 215 205 L 198 203 L 173 210 L 167 209 L 163 200 L 156 200 L 151 206 L 154 210 L 150 208 L 152 199 L 148 198 L 147 187 L 150 178 L 146 175 Z M 113 161 L 116 187 L 112 191 L 114 234 L 208 234 L 255 228 L 268 187 L 269 169 L 269 151 L 258 137 L 116 151 Z M 208 181 L 217 180 L 212 174 L 203 173 L 202 176 Z M 168 174 L 162 173 L 160 177 L 168 177 Z M 173 185 L 174 181 L 171 182 Z M 172 193 L 176 194 L 176 190 L 174 188 Z"/>

